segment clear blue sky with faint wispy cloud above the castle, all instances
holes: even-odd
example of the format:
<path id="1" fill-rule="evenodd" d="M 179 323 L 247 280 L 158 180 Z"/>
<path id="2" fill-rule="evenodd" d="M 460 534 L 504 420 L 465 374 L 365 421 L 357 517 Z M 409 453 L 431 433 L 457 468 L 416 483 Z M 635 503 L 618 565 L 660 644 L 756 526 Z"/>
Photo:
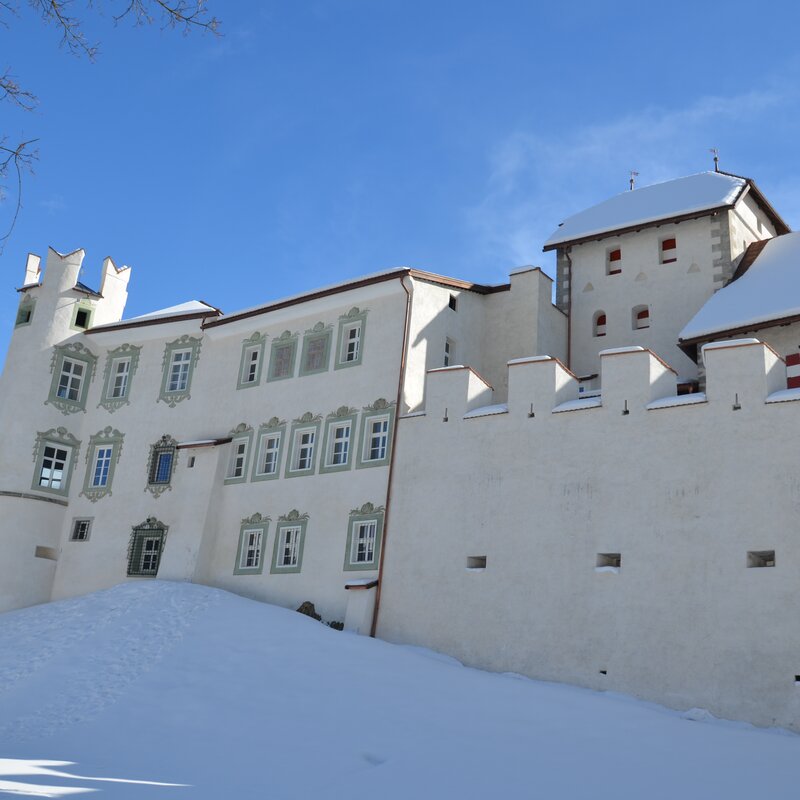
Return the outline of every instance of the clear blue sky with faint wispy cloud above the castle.
<path id="1" fill-rule="evenodd" d="M 86 12 L 95 63 L 25 5 L 0 29 L 0 68 L 41 101 L 0 104 L 9 141 L 40 139 L 0 256 L 2 350 L 48 245 L 85 248 L 90 285 L 104 256 L 129 264 L 126 316 L 397 265 L 502 282 L 551 270 L 548 234 L 629 170 L 710 169 L 712 146 L 800 227 L 796 4 L 209 5 L 220 38 Z"/>

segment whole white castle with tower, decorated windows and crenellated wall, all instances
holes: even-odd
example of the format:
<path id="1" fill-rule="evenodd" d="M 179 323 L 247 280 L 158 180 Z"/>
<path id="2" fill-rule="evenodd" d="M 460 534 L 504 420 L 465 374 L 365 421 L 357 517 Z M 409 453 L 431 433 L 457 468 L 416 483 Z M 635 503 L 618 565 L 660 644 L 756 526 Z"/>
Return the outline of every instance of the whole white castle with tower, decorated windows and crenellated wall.
<path id="1" fill-rule="evenodd" d="M 487 286 L 402 268 L 122 319 L 29 256 L 0 609 L 158 577 L 465 663 L 800 730 L 800 234 L 692 175 Z M 555 304 L 552 299 L 555 296 Z"/>

